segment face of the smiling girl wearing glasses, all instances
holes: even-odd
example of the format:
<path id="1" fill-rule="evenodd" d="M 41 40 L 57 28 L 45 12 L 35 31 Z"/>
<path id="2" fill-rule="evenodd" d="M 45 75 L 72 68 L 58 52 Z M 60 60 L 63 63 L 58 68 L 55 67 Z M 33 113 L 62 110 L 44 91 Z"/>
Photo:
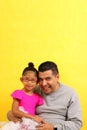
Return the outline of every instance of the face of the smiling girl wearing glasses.
<path id="1" fill-rule="evenodd" d="M 35 72 L 28 71 L 20 78 L 21 82 L 24 85 L 24 90 L 26 92 L 32 92 L 37 84 L 37 77 L 35 75 Z"/>

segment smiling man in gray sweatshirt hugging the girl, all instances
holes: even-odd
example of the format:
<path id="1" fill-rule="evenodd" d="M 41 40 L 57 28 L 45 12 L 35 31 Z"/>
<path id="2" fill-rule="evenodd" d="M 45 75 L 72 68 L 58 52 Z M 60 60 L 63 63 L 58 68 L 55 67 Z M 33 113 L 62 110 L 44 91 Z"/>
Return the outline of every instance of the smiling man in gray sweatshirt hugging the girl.
<path id="1" fill-rule="evenodd" d="M 44 105 L 37 107 L 36 113 L 46 123 L 38 125 L 37 130 L 80 130 L 82 112 L 78 96 L 72 88 L 59 82 L 57 65 L 43 62 L 38 67 L 38 76 Z"/>

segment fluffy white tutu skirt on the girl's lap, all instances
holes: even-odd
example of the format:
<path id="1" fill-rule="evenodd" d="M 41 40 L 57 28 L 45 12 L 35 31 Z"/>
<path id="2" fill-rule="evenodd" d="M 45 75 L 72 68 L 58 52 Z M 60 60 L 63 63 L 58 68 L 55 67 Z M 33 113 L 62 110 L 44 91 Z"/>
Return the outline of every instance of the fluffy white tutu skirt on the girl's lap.
<path id="1" fill-rule="evenodd" d="M 36 130 L 37 122 L 34 120 L 23 117 L 22 122 L 8 122 L 1 130 Z"/>

